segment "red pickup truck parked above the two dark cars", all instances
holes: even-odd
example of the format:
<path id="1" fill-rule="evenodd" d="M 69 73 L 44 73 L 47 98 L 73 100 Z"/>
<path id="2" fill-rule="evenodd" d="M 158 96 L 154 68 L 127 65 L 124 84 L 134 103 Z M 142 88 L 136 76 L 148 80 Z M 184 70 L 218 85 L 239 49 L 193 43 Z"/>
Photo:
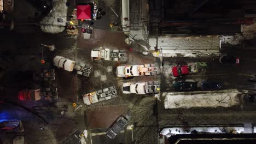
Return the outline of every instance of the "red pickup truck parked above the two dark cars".
<path id="1" fill-rule="evenodd" d="M 193 73 L 197 73 L 196 64 L 177 65 L 172 67 L 172 75 L 175 77 Z"/>

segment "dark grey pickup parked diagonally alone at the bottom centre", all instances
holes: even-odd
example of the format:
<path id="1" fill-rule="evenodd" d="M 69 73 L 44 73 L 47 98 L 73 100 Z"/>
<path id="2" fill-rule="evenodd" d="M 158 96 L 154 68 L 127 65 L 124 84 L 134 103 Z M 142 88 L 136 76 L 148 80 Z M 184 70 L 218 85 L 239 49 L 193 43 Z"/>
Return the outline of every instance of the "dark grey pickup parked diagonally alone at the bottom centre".
<path id="1" fill-rule="evenodd" d="M 115 123 L 111 125 L 107 131 L 106 134 L 110 139 L 115 139 L 115 136 L 121 131 L 125 129 L 125 126 L 127 124 L 128 120 L 124 116 L 120 116 L 117 118 Z"/>

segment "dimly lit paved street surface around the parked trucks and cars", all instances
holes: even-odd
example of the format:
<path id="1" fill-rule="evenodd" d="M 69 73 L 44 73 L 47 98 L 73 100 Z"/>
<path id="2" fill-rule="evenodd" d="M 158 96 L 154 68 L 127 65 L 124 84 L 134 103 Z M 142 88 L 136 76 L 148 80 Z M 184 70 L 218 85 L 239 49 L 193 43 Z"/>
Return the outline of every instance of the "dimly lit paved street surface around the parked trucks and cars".
<path id="1" fill-rule="evenodd" d="M 25 0 L 15 2 L 17 2 L 15 11 L 11 16 L 17 18 L 16 23 L 28 23 L 28 17 L 33 17 L 35 8 Z M 74 2 L 69 2 L 67 15 L 71 15 L 75 8 Z M 22 9 L 22 3 L 28 5 L 27 9 Z M 91 2 L 76 1 L 76 3 Z M 55 34 L 44 33 L 35 25 L 17 25 L 14 31 L 0 29 L 0 64 L 1 67 L 5 67 L 4 76 L 0 77 L 0 87 L 3 89 L 1 93 L 6 101 L 0 104 L 0 116 L 1 118 L 6 116 L 3 119 L 21 119 L 25 128 L 22 135 L 26 143 L 73 143 L 77 139 L 71 134 L 82 134 L 85 129 L 88 130 L 86 143 L 157 143 L 158 130 L 164 125 L 256 123 L 256 102 L 250 102 L 247 96 L 244 97 L 245 101 L 241 106 L 190 109 L 165 109 L 163 96 L 164 93 L 174 92 L 173 83 L 177 81 L 196 81 L 198 87 L 196 91 L 201 91 L 201 82 L 215 81 L 222 83 L 223 89 L 240 89 L 255 93 L 255 82 L 248 81 L 256 75 L 255 49 L 249 46 L 224 45 L 220 53 L 215 56 L 199 54 L 196 57 L 154 57 L 153 51 L 143 55 L 143 48 L 138 44 L 125 43 L 127 37 L 121 29 L 116 31 L 109 27 L 112 22 L 121 23 L 120 17 L 115 14 L 121 15 L 120 1 L 104 0 L 99 1 L 98 5 L 106 15 L 94 21 L 90 39 L 84 39 L 80 27 L 79 34 L 75 38 L 65 37 L 65 31 Z M 22 14 L 19 14 L 18 11 L 21 9 Z M 55 45 L 56 50 L 45 49 L 42 56 L 40 44 Z M 91 51 L 100 47 L 125 50 L 125 61 L 93 60 Z M 221 64 L 219 57 L 225 53 L 239 57 L 240 64 Z M 91 65 L 89 77 L 78 75 L 75 70 L 66 71 L 55 67 L 53 65 L 55 56 Z M 42 59 L 45 61 L 44 64 Z M 195 74 L 172 76 L 171 67 L 188 63 L 206 63 L 206 65 L 199 67 Z M 143 64 L 157 64 L 158 74 L 117 77 L 118 66 Z M 55 69 L 56 80 L 51 82 L 34 80 L 34 71 L 43 69 Z M 160 82 L 159 99 L 156 99 L 154 94 L 123 93 L 123 83 L 146 81 Z M 42 89 L 45 85 L 54 85 L 58 88 L 57 100 L 22 101 L 17 97 L 22 89 Z M 117 89 L 117 98 L 91 105 L 84 104 L 84 94 L 111 86 Z M 74 112 L 73 103 L 82 105 L 82 108 Z M 67 111 L 65 111 L 66 107 Z M 61 113 L 62 111 L 65 111 L 64 114 Z M 8 113 L 8 116 L 4 113 Z M 105 133 L 121 115 L 129 120 L 127 125 L 134 125 L 133 141 L 130 129 L 121 130 L 115 139 L 109 139 Z M 45 130 L 42 131 L 39 127 L 44 127 Z"/>

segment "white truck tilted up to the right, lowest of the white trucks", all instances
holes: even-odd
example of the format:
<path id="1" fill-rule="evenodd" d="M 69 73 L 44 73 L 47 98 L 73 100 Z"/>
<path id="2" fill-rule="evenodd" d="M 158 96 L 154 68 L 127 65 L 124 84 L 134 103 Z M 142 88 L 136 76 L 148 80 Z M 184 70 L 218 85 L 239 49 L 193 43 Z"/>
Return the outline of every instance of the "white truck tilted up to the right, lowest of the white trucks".
<path id="1" fill-rule="evenodd" d="M 83 95 L 84 104 L 91 105 L 97 103 L 98 101 L 108 100 L 118 97 L 117 89 L 115 87 L 108 87 L 100 89 L 96 92 L 91 92 Z"/>

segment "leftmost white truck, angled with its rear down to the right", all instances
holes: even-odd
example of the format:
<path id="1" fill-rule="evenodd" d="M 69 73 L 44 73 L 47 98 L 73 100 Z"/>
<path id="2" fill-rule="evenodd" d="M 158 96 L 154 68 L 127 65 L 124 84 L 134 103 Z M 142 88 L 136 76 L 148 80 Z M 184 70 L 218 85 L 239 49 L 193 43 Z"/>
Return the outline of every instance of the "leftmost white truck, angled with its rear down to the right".
<path id="1" fill-rule="evenodd" d="M 91 73 L 91 66 L 84 63 L 77 63 L 68 58 L 55 56 L 53 63 L 56 67 L 63 68 L 67 71 L 77 70 L 77 74 L 83 76 L 89 76 Z"/>

